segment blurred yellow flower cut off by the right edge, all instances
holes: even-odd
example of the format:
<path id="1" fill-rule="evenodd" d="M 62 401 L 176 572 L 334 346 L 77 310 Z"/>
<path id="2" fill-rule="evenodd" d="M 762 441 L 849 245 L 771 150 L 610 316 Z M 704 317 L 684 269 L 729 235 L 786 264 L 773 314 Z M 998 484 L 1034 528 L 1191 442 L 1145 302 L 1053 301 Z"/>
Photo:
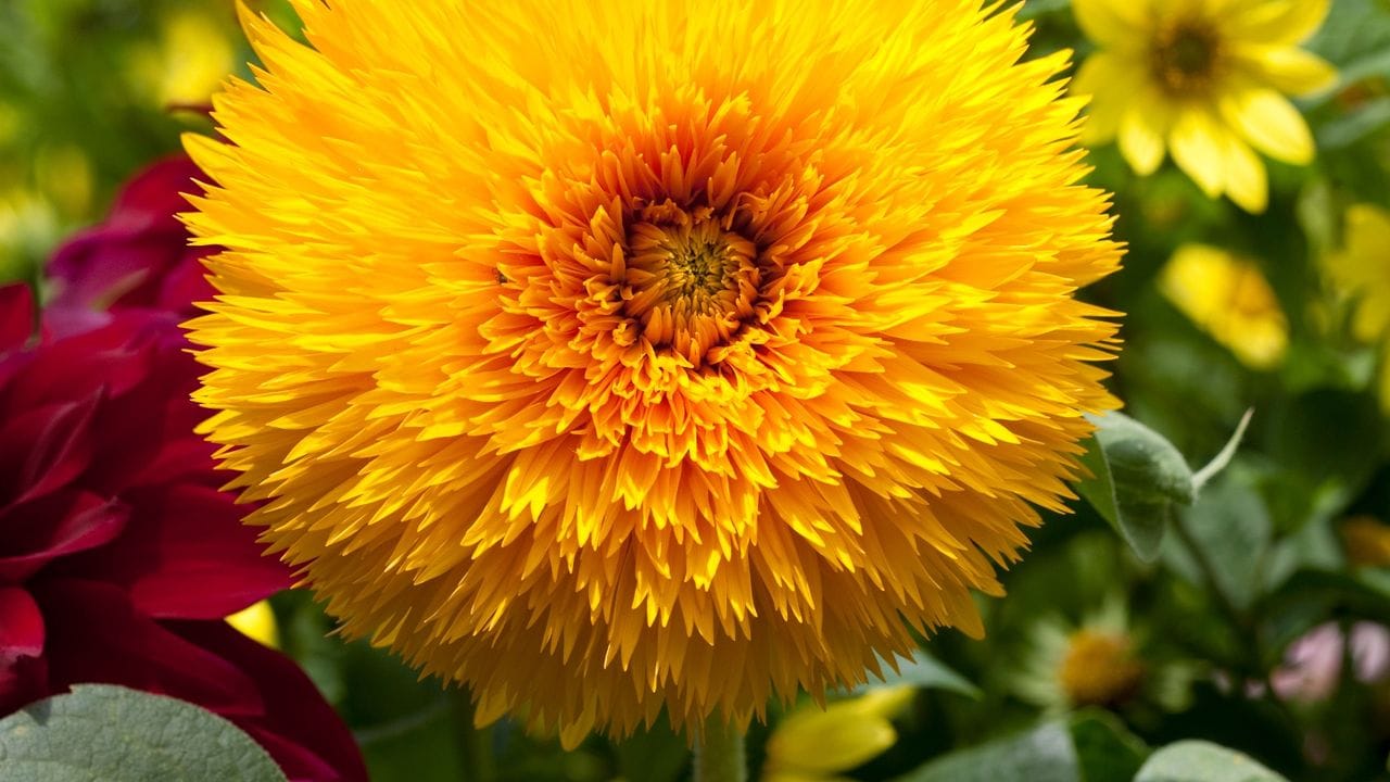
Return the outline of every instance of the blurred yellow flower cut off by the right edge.
<path id="1" fill-rule="evenodd" d="M 1344 237 L 1327 271 L 1355 302 L 1352 334 L 1380 346 L 1380 405 L 1390 410 L 1390 212 L 1369 203 L 1350 207 Z"/>

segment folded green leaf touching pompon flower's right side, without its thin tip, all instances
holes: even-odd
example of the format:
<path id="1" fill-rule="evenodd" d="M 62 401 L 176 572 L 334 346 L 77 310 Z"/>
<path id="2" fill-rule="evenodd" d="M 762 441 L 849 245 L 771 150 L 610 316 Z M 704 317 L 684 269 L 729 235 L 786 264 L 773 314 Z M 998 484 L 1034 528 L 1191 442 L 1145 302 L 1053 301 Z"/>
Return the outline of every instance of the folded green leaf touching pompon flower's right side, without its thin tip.
<path id="1" fill-rule="evenodd" d="M 1145 562 L 1158 557 L 1175 504 L 1193 501 L 1193 470 L 1163 436 L 1126 416 L 1094 416 L 1095 437 L 1077 484 L 1095 511 Z"/>

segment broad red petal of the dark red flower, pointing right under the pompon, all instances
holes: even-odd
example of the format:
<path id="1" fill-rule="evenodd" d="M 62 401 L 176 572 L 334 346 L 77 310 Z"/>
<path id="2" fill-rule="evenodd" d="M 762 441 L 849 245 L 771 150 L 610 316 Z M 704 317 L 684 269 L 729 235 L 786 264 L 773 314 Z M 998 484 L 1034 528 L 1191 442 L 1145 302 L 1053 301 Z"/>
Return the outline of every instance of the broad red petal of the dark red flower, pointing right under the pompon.
<path id="1" fill-rule="evenodd" d="M 185 484 L 122 498 L 132 508 L 125 534 L 74 568 L 125 586 L 142 612 L 220 619 L 291 586 L 289 568 L 264 555 L 231 495 Z"/>

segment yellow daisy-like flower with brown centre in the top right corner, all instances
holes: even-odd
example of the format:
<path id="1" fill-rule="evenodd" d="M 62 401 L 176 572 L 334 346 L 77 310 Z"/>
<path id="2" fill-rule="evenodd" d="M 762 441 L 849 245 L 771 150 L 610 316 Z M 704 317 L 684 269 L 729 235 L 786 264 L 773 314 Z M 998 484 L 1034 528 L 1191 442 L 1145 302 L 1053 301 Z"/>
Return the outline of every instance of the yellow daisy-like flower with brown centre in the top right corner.
<path id="1" fill-rule="evenodd" d="M 1074 0 L 1076 18 L 1101 50 L 1073 90 L 1094 96 L 1088 145 L 1119 139 L 1141 175 L 1165 150 L 1202 191 L 1247 212 L 1269 199 L 1259 150 L 1307 164 L 1312 134 L 1284 95 L 1336 81 L 1322 58 L 1298 49 L 1330 0 Z"/>

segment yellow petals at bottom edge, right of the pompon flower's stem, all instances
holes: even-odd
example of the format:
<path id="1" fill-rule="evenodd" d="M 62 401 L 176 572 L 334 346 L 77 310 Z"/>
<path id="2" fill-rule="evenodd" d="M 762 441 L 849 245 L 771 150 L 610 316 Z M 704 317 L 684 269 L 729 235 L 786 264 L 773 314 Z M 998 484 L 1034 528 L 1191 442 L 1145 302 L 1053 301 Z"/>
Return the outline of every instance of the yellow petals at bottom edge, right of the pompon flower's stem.
<path id="1" fill-rule="evenodd" d="M 824 708 L 808 704 L 777 724 L 767 739 L 763 782 L 834 782 L 837 776 L 878 757 L 898 742 L 892 717 L 916 690 L 881 687 Z"/>

